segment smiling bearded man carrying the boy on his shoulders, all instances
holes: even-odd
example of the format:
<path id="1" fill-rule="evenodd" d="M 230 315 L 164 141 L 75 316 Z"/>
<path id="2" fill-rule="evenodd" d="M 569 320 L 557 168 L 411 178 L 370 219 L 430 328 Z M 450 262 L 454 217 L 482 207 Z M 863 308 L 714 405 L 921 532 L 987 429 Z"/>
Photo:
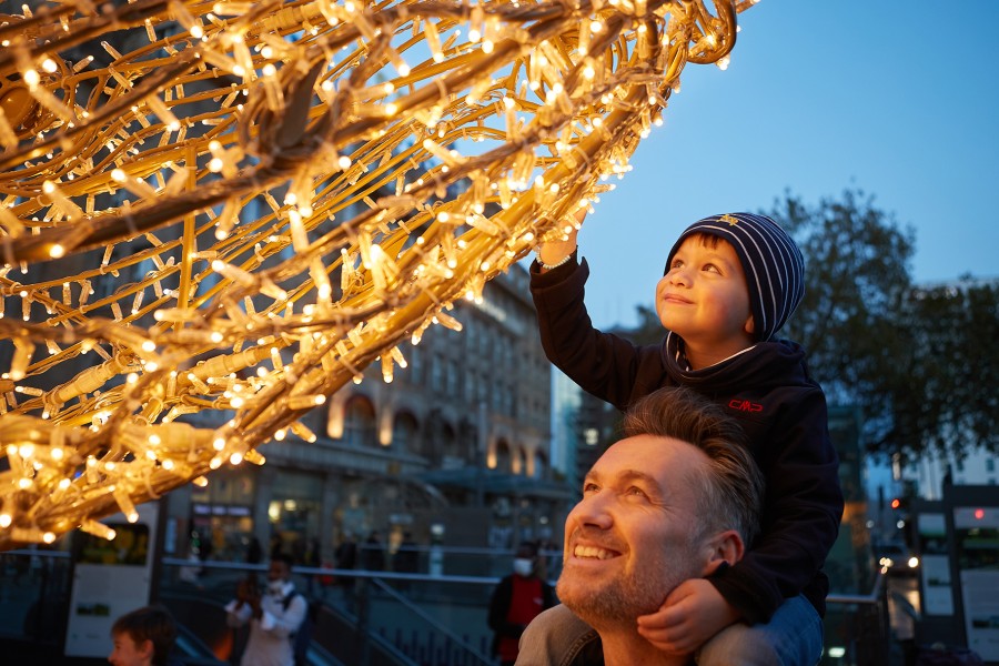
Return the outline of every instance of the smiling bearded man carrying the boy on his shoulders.
<path id="1" fill-rule="evenodd" d="M 553 633 L 543 613 L 521 639 L 517 664 L 676 665 L 638 617 L 688 578 L 724 575 L 758 531 L 763 478 L 738 425 L 686 389 L 662 389 L 625 415 L 625 438 L 594 464 L 565 522 L 556 591 L 587 623 L 584 639 Z M 563 612 L 564 613 L 564 612 Z"/>

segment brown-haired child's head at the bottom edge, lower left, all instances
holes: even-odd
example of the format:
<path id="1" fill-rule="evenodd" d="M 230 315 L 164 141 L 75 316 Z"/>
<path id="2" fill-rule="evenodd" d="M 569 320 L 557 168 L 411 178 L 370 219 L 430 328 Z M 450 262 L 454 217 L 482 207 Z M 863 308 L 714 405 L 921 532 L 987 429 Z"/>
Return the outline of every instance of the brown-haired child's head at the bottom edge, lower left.
<path id="1" fill-rule="evenodd" d="M 114 666 L 165 666 L 176 638 L 173 617 L 161 606 L 144 606 L 125 613 L 111 626 Z"/>

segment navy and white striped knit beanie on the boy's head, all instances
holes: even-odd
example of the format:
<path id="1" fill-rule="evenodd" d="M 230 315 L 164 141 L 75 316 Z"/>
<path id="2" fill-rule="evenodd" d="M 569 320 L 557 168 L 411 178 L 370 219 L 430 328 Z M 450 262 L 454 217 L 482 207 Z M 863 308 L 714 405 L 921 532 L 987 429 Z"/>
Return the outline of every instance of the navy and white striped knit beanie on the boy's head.
<path id="1" fill-rule="evenodd" d="M 684 240 L 698 233 L 717 236 L 735 248 L 749 286 L 756 339 L 770 340 L 805 295 L 805 260 L 798 245 L 766 215 L 712 215 L 688 226 L 676 240 L 666 260 L 667 273 Z"/>

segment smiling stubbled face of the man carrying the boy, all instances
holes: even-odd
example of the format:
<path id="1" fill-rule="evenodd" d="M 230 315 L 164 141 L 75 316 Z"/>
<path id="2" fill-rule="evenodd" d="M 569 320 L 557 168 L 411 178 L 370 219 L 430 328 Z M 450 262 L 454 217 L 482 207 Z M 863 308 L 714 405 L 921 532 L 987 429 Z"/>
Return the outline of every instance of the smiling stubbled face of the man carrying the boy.
<path id="1" fill-rule="evenodd" d="M 591 626 L 634 626 L 683 581 L 704 574 L 697 495 L 708 464 L 695 446 L 639 435 L 610 446 L 565 522 L 558 597 Z"/>

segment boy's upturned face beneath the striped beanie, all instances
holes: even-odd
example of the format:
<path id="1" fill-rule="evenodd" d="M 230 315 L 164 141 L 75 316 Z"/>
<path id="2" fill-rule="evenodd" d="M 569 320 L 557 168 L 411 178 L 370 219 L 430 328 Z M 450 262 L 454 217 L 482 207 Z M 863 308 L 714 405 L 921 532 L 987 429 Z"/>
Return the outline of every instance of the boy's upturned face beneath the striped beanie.
<path id="1" fill-rule="evenodd" d="M 722 239 L 684 240 L 656 285 L 656 312 L 688 346 L 710 349 L 722 359 L 753 344 L 746 275 L 735 249 Z"/>

